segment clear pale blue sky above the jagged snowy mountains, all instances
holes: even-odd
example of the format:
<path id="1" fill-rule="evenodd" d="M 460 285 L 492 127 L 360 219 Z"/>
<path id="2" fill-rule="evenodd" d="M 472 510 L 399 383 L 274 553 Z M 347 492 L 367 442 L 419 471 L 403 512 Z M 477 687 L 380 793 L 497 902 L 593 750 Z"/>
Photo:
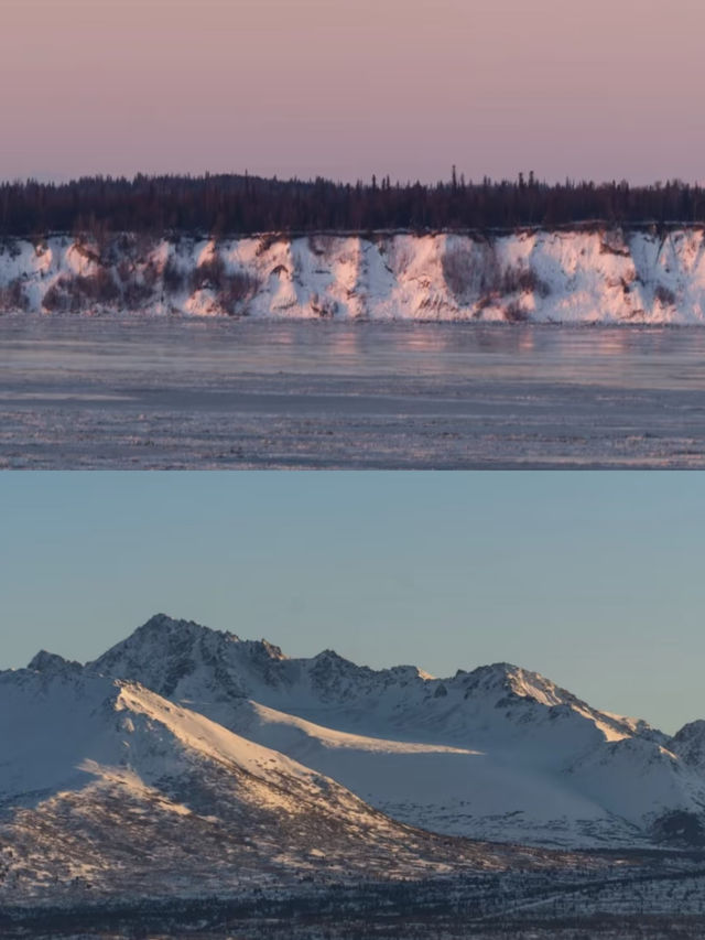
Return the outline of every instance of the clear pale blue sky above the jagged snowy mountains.
<path id="1" fill-rule="evenodd" d="M 0 668 L 159 611 L 291 656 L 509 660 L 666 731 L 705 717 L 705 482 L 676 473 L 0 475 Z"/>

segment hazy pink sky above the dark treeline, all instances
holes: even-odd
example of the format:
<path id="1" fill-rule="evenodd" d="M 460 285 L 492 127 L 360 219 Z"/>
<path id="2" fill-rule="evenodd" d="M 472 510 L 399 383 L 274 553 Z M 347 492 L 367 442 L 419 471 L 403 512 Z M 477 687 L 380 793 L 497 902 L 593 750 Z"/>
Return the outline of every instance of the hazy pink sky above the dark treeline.
<path id="1" fill-rule="evenodd" d="M 0 177 L 705 179 L 703 0 L 0 0 Z"/>

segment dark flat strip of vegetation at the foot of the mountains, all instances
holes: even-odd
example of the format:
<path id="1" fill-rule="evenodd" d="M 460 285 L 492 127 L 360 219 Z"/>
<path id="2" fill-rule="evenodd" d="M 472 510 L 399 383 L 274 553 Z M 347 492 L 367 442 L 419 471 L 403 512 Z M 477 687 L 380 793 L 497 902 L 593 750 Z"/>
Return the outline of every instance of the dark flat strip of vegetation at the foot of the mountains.
<path id="1" fill-rule="evenodd" d="M 668 855 L 651 856 L 647 871 L 612 871 L 607 876 L 581 871 L 507 872 L 422 882 L 302 884 L 299 889 L 248 890 L 240 898 L 96 899 L 55 907 L 6 907 L 0 910 L 0 936 L 702 938 L 702 864 L 669 871 Z M 649 853 L 641 861 L 648 860 Z"/>

